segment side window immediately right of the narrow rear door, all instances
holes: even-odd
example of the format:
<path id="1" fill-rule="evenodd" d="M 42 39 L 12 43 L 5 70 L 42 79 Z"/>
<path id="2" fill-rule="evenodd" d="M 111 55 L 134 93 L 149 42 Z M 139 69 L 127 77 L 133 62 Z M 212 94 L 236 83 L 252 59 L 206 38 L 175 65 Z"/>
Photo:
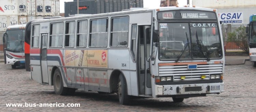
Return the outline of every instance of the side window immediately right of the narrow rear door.
<path id="1" fill-rule="evenodd" d="M 63 23 L 53 23 L 50 29 L 50 47 L 62 47 Z"/>

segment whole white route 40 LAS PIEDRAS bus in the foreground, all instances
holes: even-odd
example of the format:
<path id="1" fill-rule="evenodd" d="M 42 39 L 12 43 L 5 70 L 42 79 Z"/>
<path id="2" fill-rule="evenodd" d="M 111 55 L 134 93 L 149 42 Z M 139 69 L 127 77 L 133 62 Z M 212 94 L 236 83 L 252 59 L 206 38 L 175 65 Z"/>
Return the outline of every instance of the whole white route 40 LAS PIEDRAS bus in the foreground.
<path id="1" fill-rule="evenodd" d="M 161 7 L 31 23 L 31 78 L 56 94 L 76 89 L 184 98 L 224 91 L 216 10 Z"/>

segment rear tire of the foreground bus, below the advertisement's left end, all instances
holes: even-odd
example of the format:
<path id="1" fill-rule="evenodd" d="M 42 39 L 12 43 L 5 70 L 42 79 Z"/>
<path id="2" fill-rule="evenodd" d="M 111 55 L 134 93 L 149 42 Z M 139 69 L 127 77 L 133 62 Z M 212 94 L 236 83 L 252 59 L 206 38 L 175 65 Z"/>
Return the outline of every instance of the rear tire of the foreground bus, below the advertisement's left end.
<path id="1" fill-rule="evenodd" d="M 53 87 L 55 94 L 57 95 L 67 95 L 68 88 L 63 87 L 63 81 L 59 69 L 54 71 L 53 75 Z"/>

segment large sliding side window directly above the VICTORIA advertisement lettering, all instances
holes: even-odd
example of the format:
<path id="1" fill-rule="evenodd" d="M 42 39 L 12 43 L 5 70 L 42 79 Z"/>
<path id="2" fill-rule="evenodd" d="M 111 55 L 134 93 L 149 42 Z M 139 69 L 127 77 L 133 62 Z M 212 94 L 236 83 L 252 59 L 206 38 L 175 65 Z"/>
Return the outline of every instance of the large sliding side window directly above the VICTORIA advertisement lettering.
<path id="1" fill-rule="evenodd" d="M 90 47 L 106 47 L 108 44 L 108 19 L 90 21 Z"/>

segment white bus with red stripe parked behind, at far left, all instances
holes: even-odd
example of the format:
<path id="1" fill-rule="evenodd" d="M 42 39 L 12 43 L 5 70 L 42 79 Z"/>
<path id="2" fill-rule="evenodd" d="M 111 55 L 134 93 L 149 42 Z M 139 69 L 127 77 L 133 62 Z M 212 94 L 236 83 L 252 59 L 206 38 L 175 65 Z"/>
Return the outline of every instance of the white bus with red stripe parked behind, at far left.
<path id="1" fill-rule="evenodd" d="M 24 37 L 26 24 L 8 26 L 3 35 L 4 63 L 16 66 L 25 65 Z"/>

